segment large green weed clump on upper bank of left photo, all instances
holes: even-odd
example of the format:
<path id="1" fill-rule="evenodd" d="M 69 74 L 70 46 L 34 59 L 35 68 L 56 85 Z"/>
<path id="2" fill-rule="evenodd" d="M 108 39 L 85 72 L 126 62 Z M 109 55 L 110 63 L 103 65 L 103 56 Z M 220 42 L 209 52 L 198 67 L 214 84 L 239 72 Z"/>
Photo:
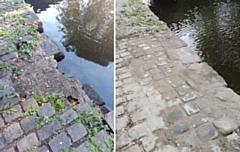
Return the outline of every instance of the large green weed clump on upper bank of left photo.
<path id="1" fill-rule="evenodd" d="M 37 25 L 25 24 L 25 17 L 27 14 L 29 14 L 29 12 L 5 13 L 3 15 L 4 20 L 11 24 L 5 25 L 0 29 L 0 36 L 8 42 L 4 46 L 6 52 L 11 53 L 19 49 L 18 56 L 24 60 L 33 56 L 38 40 L 38 34 L 36 32 Z M 16 43 L 18 48 L 16 47 Z"/>

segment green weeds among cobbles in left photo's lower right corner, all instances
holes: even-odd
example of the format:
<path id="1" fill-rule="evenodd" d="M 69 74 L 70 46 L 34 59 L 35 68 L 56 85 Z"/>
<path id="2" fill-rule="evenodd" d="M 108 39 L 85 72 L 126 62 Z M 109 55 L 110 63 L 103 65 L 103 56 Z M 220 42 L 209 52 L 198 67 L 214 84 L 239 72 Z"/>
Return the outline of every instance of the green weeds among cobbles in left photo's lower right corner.
<path id="1" fill-rule="evenodd" d="M 105 144 L 98 143 L 95 139 L 100 130 L 109 130 L 98 112 L 90 108 L 85 109 L 83 113 L 80 113 L 77 109 L 75 111 L 78 113 L 78 117 L 74 120 L 74 123 L 81 122 L 88 131 L 88 136 L 85 139 L 86 146 L 92 152 L 113 152 L 113 135 L 105 139 Z"/>

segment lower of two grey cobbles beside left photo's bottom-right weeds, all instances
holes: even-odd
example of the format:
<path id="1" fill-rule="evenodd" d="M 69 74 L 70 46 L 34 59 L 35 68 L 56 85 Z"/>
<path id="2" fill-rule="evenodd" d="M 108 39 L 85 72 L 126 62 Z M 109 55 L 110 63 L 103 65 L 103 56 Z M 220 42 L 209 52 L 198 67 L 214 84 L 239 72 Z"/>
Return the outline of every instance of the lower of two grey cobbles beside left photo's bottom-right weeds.
<path id="1" fill-rule="evenodd" d="M 81 123 L 73 124 L 72 126 L 68 127 L 67 132 L 73 142 L 76 142 L 87 135 L 87 130 Z"/>

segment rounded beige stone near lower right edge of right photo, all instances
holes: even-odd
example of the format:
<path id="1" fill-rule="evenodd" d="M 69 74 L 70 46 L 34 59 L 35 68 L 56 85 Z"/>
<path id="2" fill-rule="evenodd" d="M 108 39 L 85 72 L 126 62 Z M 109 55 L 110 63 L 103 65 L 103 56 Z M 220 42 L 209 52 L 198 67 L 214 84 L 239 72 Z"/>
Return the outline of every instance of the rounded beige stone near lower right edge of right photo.
<path id="1" fill-rule="evenodd" d="M 238 128 L 238 124 L 226 116 L 215 120 L 213 124 L 222 135 L 228 135 Z"/>

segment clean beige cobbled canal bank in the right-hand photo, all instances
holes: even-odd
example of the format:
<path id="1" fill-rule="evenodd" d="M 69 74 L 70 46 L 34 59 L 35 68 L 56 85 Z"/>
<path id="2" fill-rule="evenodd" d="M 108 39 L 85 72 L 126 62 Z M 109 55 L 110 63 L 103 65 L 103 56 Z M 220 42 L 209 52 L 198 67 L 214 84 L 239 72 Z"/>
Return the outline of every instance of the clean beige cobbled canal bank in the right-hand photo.
<path id="1" fill-rule="evenodd" d="M 239 95 L 146 5 L 116 3 L 117 151 L 238 151 Z"/>

